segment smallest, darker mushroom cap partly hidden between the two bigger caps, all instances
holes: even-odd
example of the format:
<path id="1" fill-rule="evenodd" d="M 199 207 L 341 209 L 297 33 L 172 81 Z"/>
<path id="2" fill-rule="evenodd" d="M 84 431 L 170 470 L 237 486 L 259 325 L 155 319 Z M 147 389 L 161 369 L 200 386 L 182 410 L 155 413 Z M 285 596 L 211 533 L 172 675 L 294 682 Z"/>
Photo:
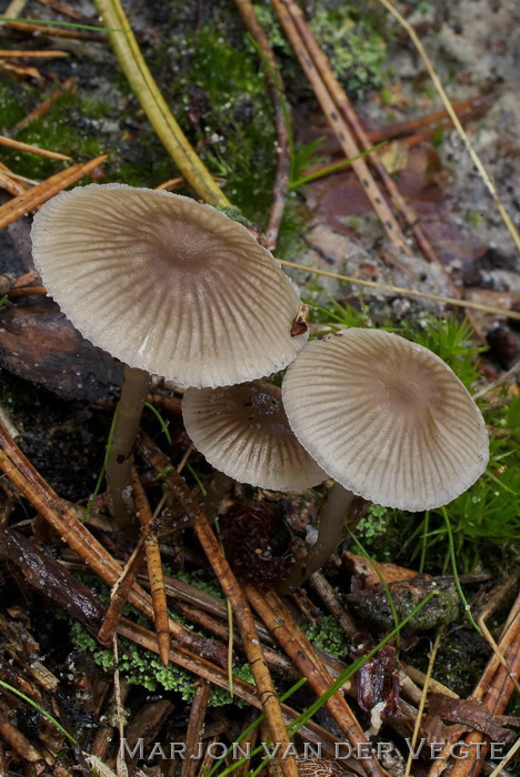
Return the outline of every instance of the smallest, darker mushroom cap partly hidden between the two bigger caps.
<path id="1" fill-rule="evenodd" d="M 289 426 L 277 386 L 189 389 L 182 415 L 198 451 L 240 483 L 303 491 L 327 478 Z"/>

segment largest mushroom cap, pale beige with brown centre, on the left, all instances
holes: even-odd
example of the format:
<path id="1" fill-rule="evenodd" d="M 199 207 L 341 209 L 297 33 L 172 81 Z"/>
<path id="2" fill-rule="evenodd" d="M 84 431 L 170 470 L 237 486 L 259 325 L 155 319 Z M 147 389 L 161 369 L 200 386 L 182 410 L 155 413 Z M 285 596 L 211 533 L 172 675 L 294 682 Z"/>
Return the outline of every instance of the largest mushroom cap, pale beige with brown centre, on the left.
<path id="1" fill-rule="evenodd" d="M 132 367 L 186 386 L 280 370 L 296 286 L 248 230 L 186 196 L 123 184 L 58 194 L 34 218 L 34 263 L 74 326 Z"/>

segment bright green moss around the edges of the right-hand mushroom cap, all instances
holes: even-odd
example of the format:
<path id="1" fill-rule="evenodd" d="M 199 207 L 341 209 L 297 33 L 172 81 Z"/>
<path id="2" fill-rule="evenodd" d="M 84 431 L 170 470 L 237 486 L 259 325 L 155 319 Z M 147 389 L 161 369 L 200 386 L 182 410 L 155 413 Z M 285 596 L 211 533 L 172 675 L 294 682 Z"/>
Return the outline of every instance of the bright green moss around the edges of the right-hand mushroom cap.
<path id="1" fill-rule="evenodd" d="M 357 311 L 336 302 L 314 307 L 312 320 L 328 327 L 373 326 L 367 309 Z M 382 326 L 430 349 L 440 356 L 471 392 L 483 350 L 471 340 L 467 321 L 454 315 L 427 317 Z M 490 432 L 490 462 L 486 473 L 468 491 L 446 506 L 459 572 L 486 568 L 503 574 L 518 561 L 520 536 L 520 398 L 502 392 L 494 404 L 479 402 Z M 379 531 L 380 529 L 380 531 Z M 417 563 L 421 571 L 450 572 L 448 532 L 441 509 L 413 514 L 372 505 L 360 523 L 366 545 L 379 559 L 403 565 Z M 406 542 L 403 543 L 403 537 Z"/>

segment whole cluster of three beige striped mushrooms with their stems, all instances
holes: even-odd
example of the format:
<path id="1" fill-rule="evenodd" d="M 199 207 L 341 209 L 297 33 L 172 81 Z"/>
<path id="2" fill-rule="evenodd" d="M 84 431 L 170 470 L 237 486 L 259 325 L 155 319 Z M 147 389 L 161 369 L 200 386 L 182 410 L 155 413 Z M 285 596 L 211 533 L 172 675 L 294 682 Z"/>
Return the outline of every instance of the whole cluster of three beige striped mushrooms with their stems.
<path id="1" fill-rule="evenodd" d="M 126 364 L 108 466 L 121 525 L 131 517 L 131 450 L 150 373 L 184 390 L 187 432 L 216 470 L 290 492 L 332 477 L 329 552 L 354 494 L 430 509 L 484 471 L 482 415 L 444 362 L 379 330 L 307 343 L 294 326 L 296 285 L 214 208 L 91 184 L 46 203 L 32 241 L 49 294 L 84 337 Z M 260 382 L 284 367 L 281 390 Z"/>

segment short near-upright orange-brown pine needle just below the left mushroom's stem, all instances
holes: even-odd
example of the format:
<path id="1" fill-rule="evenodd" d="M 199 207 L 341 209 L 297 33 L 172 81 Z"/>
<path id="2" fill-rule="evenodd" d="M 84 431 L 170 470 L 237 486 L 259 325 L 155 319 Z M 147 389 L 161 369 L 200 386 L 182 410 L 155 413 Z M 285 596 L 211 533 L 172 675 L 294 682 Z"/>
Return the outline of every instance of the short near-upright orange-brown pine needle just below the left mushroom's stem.
<path id="1" fill-rule="evenodd" d="M 152 512 L 138 477 L 136 470 L 132 470 L 132 492 L 136 503 L 136 515 L 141 524 L 144 535 L 144 551 L 147 554 L 148 577 L 150 579 L 150 591 L 153 603 L 153 622 L 156 624 L 157 642 L 159 644 L 159 655 L 163 666 L 170 662 L 170 632 L 168 627 L 168 603 L 164 591 L 164 579 L 162 576 L 161 552 L 159 541 L 153 526 Z"/>

